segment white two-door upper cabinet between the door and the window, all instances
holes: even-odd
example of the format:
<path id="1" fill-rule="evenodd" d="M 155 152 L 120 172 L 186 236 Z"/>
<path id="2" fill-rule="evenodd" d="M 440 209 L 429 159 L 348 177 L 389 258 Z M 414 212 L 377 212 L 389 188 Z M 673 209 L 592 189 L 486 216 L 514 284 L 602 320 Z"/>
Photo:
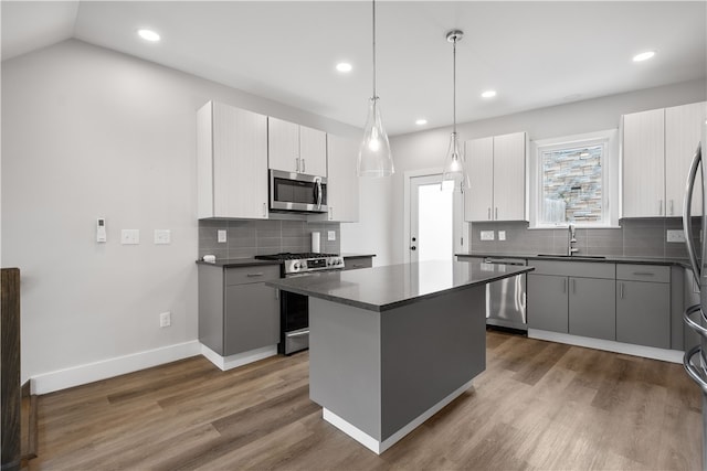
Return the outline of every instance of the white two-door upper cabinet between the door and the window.
<path id="1" fill-rule="evenodd" d="M 526 149 L 525 132 L 465 142 L 465 221 L 526 221 Z"/>

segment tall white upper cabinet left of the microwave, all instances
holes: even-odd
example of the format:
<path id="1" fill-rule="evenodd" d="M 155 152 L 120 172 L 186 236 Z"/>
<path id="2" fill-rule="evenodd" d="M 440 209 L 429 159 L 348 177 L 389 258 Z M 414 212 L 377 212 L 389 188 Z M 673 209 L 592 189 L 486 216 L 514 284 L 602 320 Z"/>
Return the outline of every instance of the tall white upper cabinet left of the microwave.
<path id="1" fill-rule="evenodd" d="M 267 218 L 267 117 L 209 101 L 197 113 L 198 214 Z"/>

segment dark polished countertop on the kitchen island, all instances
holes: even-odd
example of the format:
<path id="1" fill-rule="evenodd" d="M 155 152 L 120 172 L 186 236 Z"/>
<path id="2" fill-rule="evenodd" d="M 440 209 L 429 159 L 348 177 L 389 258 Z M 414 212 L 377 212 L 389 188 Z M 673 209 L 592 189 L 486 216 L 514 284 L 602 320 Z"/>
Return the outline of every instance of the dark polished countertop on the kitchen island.
<path id="1" fill-rule="evenodd" d="M 310 274 L 271 280 L 265 285 L 382 312 L 531 270 L 532 267 L 435 260 Z"/>

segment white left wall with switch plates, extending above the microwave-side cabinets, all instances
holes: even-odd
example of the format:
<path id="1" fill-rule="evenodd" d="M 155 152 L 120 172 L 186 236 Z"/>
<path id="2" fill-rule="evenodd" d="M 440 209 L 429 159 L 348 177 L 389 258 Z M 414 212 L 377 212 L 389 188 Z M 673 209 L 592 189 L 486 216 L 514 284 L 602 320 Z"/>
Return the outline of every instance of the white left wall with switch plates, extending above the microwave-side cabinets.
<path id="1" fill-rule="evenodd" d="M 75 40 L 2 63 L 1 254 L 22 272 L 22 381 L 68 368 L 81 383 L 102 371 L 82 365 L 147 366 L 140 352 L 197 340 L 196 110 L 209 99 L 360 136 Z M 120 228 L 140 229 L 140 245 L 120 245 Z M 155 228 L 172 244 L 154 245 Z"/>

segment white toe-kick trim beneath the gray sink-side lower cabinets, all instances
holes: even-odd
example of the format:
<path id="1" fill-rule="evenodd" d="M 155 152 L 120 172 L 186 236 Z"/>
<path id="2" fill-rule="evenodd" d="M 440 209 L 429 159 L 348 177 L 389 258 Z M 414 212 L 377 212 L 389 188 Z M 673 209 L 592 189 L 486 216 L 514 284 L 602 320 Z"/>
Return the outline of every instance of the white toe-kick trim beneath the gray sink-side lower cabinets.
<path id="1" fill-rule="evenodd" d="M 679 350 L 656 349 L 654 346 L 633 345 L 631 343 L 614 342 L 611 340 L 591 339 L 588 336 L 570 335 L 567 333 L 549 332 L 538 329 L 528 329 L 529 339 L 547 340 L 549 342 L 567 343 L 569 345 L 585 346 L 589 349 L 604 350 L 606 352 L 624 353 L 626 355 L 643 356 L 645 358 L 661 360 L 663 362 L 683 363 L 685 352 Z"/>

